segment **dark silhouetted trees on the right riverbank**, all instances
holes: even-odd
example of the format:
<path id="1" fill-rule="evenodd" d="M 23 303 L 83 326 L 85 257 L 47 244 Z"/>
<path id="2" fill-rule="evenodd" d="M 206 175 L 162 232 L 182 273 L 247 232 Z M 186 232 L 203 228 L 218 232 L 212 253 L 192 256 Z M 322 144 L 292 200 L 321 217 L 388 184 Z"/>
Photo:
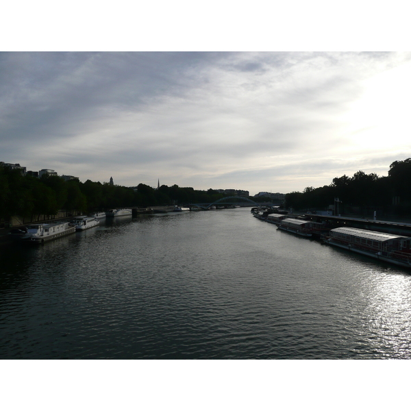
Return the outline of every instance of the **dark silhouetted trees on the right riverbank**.
<path id="1" fill-rule="evenodd" d="M 375 210 L 400 216 L 411 213 L 411 158 L 390 164 L 388 176 L 358 171 L 335 177 L 328 186 L 286 194 L 287 208 L 324 210 L 338 200 L 340 214 L 368 215 Z"/>

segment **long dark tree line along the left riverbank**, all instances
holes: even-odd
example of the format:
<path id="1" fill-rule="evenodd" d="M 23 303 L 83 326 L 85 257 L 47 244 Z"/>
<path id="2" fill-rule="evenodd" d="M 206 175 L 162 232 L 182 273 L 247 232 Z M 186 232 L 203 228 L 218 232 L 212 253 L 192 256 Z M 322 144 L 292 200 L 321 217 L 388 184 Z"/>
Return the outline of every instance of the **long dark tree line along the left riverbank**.
<path id="1" fill-rule="evenodd" d="M 212 203 L 225 197 L 215 190 L 191 187 L 161 186 L 158 190 L 138 184 L 136 187 L 78 179 L 64 181 L 56 175 L 40 179 L 22 175 L 21 171 L 0 167 L 0 218 L 11 216 L 32 219 L 34 216 L 57 214 L 58 210 L 95 212 L 110 208 L 170 206 L 184 203 Z"/>

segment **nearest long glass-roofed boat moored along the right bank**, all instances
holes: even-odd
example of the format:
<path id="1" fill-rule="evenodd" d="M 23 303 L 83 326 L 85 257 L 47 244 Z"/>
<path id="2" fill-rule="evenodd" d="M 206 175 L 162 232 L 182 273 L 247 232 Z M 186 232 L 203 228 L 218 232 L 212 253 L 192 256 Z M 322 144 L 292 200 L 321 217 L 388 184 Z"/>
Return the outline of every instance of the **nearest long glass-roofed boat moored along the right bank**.
<path id="1" fill-rule="evenodd" d="M 338 227 L 330 230 L 328 236 L 323 236 L 323 240 L 329 245 L 411 269 L 410 237 Z"/>

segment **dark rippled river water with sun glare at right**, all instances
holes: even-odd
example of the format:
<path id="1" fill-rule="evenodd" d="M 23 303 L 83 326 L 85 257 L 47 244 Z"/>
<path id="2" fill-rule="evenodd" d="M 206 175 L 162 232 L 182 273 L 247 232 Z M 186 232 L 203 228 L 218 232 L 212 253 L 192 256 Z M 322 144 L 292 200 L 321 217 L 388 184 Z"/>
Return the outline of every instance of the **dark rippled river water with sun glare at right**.
<path id="1" fill-rule="evenodd" d="M 119 217 L 0 248 L 0 358 L 411 358 L 410 274 L 249 208 Z"/>

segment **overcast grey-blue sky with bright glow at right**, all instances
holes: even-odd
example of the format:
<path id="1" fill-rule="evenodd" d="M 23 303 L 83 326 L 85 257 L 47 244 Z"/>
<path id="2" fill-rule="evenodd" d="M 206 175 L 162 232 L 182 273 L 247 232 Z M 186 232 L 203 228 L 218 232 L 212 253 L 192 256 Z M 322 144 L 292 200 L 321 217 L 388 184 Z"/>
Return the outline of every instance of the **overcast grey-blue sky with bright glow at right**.
<path id="1" fill-rule="evenodd" d="M 411 53 L 3 52 L 0 161 L 290 192 L 411 157 Z"/>

